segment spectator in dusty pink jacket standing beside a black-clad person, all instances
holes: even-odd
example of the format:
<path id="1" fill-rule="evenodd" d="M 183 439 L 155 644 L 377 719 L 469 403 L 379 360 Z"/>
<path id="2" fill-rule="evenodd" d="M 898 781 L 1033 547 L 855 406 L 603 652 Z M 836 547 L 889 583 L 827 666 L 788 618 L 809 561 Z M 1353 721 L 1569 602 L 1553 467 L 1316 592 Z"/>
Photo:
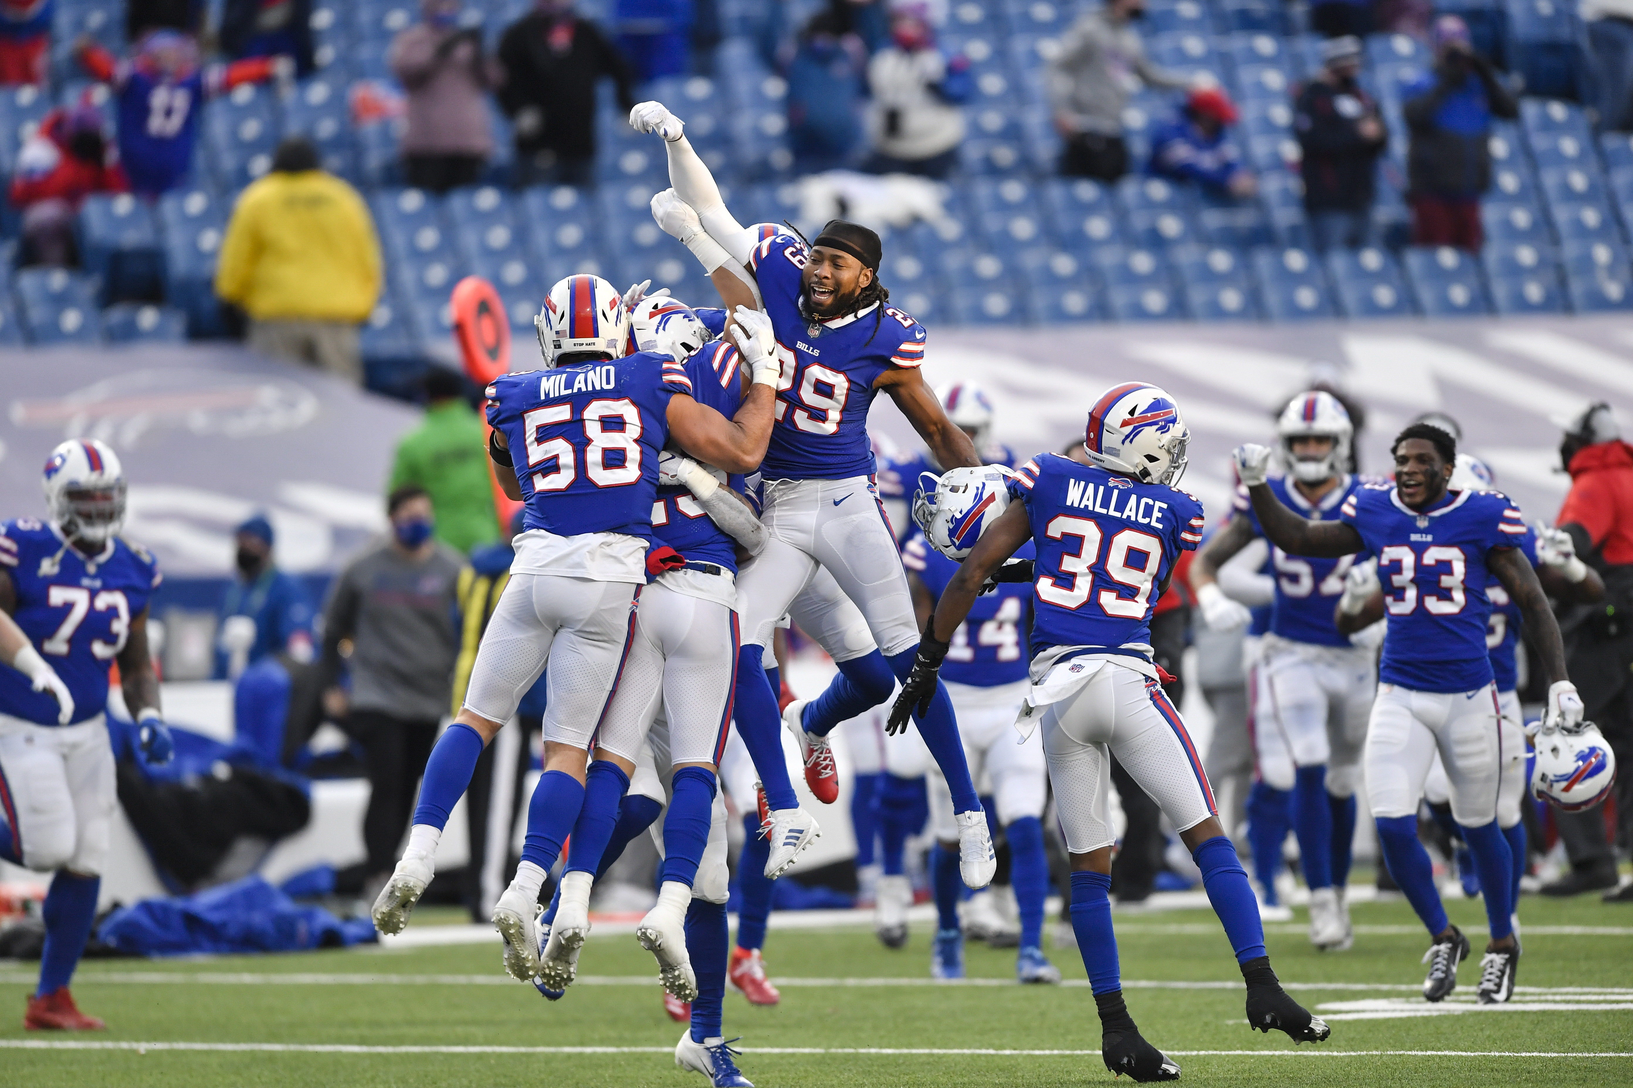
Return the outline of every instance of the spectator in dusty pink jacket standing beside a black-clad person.
<path id="1" fill-rule="evenodd" d="M 397 34 L 389 62 L 408 91 L 403 173 L 408 184 L 447 192 L 474 184 L 493 153 L 482 28 L 459 28 L 462 0 L 421 0 L 425 20 Z"/>

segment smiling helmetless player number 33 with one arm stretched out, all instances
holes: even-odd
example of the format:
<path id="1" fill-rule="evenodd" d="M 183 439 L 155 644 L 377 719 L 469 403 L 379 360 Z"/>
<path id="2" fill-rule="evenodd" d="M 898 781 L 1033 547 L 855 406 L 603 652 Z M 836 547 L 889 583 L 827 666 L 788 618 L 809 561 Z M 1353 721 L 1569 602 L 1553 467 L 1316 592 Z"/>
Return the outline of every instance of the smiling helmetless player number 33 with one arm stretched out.
<path id="1" fill-rule="evenodd" d="M 1450 491 L 1457 440 L 1434 424 L 1411 424 L 1391 449 L 1395 483 L 1364 484 L 1337 520 L 1310 520 L 1267 484 L 1272 450 L 1236 449 L 1236 470 L 1270 543 L 1290 555 L 1339 558 L 1370 553 L 1388 574 L 1378 698 L 1367 726 L 1367 804 L 1390 874 L 1429 928 L 1424 997 L 1457 987 L 1468 938 L 1452 925 L 1417 842 L 1417 799 L 1435 750 L 1452 783 L 1452 814 L 1463 825 L 1484 889 L 1491 943 L 1481 959 L 1479 1000 L 1514 993 L 1520 946 L 1514 936 L 1514 858 L 1497 824 L 1502 793 L 1502 706 L 1486 649 L 1496 577 L 1520 608 L 1548 679 L 1545 726 L 1573 729 L 1582 700 L 1566 679 L 1560 625 L 1519 548 L 1525 522 L 1496 491 Z M 1509 737 L 1512 744 L 1512 737 Z"/>

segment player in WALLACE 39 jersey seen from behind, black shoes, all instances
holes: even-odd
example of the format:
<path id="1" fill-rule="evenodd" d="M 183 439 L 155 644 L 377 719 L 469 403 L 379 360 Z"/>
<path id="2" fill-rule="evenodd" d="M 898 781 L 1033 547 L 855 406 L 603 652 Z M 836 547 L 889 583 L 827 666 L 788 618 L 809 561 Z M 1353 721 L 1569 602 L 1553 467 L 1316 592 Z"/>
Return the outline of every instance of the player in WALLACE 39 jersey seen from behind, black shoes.
<path id="1" fill-rule="evenodd" d="M 1048 778 L 1071 851 L 1071 928 L 1089 972 L 1114 1073 L 1176 1080 L 1179 1067 L 1146 1042 L 1122 997 L 1112 931 L 1109 811 L 1112 755 L 1163 807 L 1190 850 L 1208 902 L 1225 925 L 1248 984 L 1248 1023 L 1319 1042 L 1328 1026 L 1288 997 L 1270 971 L 1259 907 L 1236 850 L 1220 827 L 1202 759 L 1151 661 L 1151 607 L 1181 551 L 1202 540 L 1202 504 L 1172 486 L 1189 432 L 1174 400 L 1153 385 L 1109 388 L 1089 411 L 1084 450 L 1092 467 L 1039 453 L 1009 483 L 1014 499 L 941 594 L 913 672 L 892 710 L 905 719 L 936 690 L 950 641 L 988 577 L 1026 543 L 1037 548 L 1032 688 L 1016 721 L 1042 724 Z M 978 520 L 985 496 L 962 496 L 942 478 L 929 537 L 942 522 Z M 978 501 L 970 506 L 972 498 Z"/>

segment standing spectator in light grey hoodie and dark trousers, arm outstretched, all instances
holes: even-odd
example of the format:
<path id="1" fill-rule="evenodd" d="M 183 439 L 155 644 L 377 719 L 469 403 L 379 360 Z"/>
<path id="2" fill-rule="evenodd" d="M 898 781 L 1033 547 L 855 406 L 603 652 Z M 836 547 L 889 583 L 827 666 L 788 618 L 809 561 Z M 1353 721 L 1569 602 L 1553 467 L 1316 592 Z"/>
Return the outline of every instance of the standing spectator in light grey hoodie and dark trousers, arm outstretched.
<path id="1" fill-rule="evenodd" d="M 1177 90 L 1184 75 L 1151 64 L 1133 24 L 1145 18 L 1145 0 L 1112 0 L 1088 11 L 1060 39 L 1048 62 L 1048 101 L 1055 129 L 1066 140 L 1060 173 L 1068 178 L 1117 181 L 1128 173 L 1122 111 L 1138 85 Z"/>

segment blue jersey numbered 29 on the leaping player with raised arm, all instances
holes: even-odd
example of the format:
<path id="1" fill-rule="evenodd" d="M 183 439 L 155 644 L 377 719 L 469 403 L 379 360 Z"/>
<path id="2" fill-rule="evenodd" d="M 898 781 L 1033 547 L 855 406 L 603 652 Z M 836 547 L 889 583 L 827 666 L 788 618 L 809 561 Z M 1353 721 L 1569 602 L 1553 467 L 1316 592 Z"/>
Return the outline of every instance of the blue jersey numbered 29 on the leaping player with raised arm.
<path id="1" fill-rule="evenodd" d="M 766 238 L 748 258 L 777 336 L 776 424 L 766 480 L 844 480 L 874 471 L 867 409 L 874 382 L 892 367 L 924 362 L 924 326 L 897 307 L 815 321 L 800 313 L 805 243 Z"/>

